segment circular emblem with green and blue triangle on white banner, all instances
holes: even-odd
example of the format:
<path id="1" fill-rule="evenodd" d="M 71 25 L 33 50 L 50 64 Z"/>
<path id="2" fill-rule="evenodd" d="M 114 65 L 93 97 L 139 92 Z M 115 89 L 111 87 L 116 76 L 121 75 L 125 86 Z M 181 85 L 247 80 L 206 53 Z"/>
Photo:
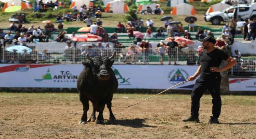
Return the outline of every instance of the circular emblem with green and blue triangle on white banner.
<path id="1" fill-rule="evenodd" d="M 168 81 L 171 84 L 176 85 L 180 82 L 186 81 L 188 77 L 188 72 L 185 69 L 175 68 L 169 72 Z"/>

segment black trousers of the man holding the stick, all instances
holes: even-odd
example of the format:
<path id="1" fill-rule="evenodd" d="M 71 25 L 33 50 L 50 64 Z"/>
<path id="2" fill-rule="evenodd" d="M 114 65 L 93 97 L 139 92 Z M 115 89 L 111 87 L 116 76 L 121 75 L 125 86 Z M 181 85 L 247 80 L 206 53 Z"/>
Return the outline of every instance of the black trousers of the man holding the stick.
<path id="1" fill-rule="evenodd" d="M 221 114 L 221 76 L 212 77 L 208 79 L 198 78 L 191 93 L 191 117 L 198 118 L 200 99 L 203 92 L 208 90 L 212 95 L 212 114 L 213 117 L 218 118 Z"/>

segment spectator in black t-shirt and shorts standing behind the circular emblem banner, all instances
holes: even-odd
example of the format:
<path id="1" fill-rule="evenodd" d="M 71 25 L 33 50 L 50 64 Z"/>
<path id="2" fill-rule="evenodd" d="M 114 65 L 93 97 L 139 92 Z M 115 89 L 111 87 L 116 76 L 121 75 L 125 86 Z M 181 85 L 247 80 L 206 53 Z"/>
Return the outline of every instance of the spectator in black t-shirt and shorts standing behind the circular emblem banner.
<path id="1" fill-rule="evenodd" d="M 174 41 L 174 37 L 172 37 L 172 41 L 167 43 L 168 48 L 168 56 L 169 56 L 169 65 L 171 65 L 171 58 L 173 56 L 174 65 L 176 65 L 176 55 L 177 55 L 177 48 L 179 47 L 178 43 Z"/>

